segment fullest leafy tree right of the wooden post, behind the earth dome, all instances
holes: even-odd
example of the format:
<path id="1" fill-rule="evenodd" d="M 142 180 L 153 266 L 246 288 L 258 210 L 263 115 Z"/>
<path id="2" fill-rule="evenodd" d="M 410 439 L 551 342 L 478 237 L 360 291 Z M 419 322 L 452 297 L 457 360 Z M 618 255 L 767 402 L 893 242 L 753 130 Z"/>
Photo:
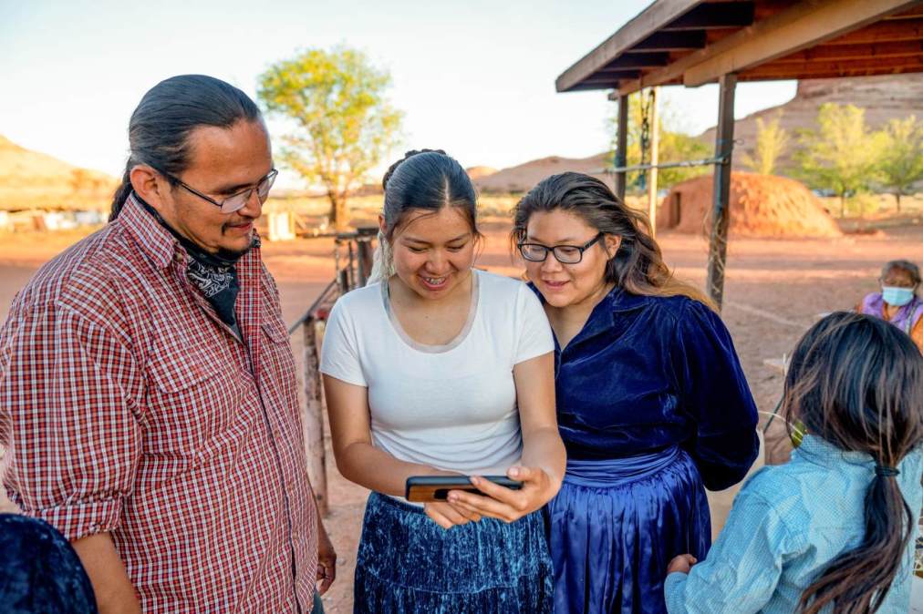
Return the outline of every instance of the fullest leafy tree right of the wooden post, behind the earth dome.
<path id="1" fill-rule="evenodd" d="M 821 104 L 818 130 L 804 130 L 795 154 L 797 171 L 812 187 L 833 190 L 840 197 L 840 217 L 845 217 L 846 196 L 866 189 L 879 175 L 881 133 L 869 133 L 865 109 L 851 104 Z"/>

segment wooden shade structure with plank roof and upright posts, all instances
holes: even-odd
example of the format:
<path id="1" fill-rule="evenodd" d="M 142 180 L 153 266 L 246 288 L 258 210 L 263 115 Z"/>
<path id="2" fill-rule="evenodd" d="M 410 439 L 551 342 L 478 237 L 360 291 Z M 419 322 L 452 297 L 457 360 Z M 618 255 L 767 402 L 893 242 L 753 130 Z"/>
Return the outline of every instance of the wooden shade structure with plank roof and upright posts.
<path id="1" fill-rule="evenodd" d="M 616 191 L 625 195 L 628 95 L 720 85 L 707 287 L 721 305 L 737 81 L 923 72 L 923 1 L 657 0 L 557 77 L 559 92 L 613 90 Z"/>

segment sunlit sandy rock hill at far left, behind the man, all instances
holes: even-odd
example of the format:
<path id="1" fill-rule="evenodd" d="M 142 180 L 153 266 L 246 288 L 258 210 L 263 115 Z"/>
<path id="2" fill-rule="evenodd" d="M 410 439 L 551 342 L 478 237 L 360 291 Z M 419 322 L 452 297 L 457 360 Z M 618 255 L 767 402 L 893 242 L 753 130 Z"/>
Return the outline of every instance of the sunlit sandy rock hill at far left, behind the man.
<path id="1" fill-rule="evenodd" d="M 0 210 L 105 209 L 116 179 L 81 169 L 0 136 Z"/>

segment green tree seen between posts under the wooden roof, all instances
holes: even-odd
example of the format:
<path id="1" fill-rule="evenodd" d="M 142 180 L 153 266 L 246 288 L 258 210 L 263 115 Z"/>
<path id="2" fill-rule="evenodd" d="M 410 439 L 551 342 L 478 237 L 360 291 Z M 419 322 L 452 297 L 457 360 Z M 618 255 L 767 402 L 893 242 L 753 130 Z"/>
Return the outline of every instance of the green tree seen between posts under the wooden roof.
<path id="1" fill-rule="evenodd" d="M 702 143 L 698 138 L 689 136 L 671 129 L 677 124 L 676 114 L 669 103 L 668 99 L 659 100 L 660 113 L 658 124 L 660 126 L 660 142 L 657 145 L 657 159 L 664 162 L 680 162 L 688 159 L 707 158 L 711 153 L 711 148 Z M 629 96 L 629 125 L 628 125 L 628 161 L 627 165 L 641 163 L 641 122 L 643 112 L 641 110 L 641 97 L 638 94 Z M 616 144 L 618 142 L 618 114 L 617 112 L 609 118 L 607 122 L 612 129 L 612 159 L 616 156 Z M 669 188 L 676 183 L 684 182 L 692 177 L 707 174 L 711 172 L 710 167 L 680 167 L 674 169 L 660 169 L 657 171 L 657 187 Z M 628 173 L 626 184 L 629 187 L 638 188 L 641 181 L 641 171 L 632 171 Z"/>

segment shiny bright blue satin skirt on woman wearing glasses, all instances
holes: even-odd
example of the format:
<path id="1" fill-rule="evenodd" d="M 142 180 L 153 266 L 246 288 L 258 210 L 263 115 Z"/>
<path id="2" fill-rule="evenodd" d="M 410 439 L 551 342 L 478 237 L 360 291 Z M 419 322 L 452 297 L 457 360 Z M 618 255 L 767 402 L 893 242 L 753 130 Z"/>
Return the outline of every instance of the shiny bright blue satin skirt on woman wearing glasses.
<path id="1" fill-rule="evenodd" d="M 665 612 L 666 566 L 712 544 L 699 470 L 673 446 L 650 455 L 569 460 L 548 503 L 557 614 Z"/>

